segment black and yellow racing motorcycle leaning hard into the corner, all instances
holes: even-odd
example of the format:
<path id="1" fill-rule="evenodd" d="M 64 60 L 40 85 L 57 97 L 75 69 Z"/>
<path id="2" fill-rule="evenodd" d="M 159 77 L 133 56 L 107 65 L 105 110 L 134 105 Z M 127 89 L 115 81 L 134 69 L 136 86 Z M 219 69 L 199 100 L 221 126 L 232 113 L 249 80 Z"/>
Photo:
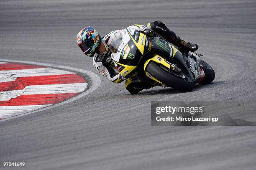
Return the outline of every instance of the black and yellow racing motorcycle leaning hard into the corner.
<path id="1" fill-rule="evenodd" d="M 194 85 L 210 84 L 215 73 L 212 67 L 196 58 L 197 53 L 181 53 L 172 43 L 125 28 L 122 41 L 111 58 L 126 78 L 135 78 L 154 86 L 192 91 Z"/>

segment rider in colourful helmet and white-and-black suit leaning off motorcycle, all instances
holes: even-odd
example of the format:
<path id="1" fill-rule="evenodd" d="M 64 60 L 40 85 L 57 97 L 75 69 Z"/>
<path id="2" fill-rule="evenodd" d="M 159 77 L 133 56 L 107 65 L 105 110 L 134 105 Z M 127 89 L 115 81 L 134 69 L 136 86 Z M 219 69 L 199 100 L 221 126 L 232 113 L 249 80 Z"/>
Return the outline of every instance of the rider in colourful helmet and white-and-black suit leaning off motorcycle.
<path id="1" fill-rule="evenodd" d="M 174 44 L 182 52 L 194 52 L 198 49 L 197 44 L 186 42 L 176 36 L 176 34 L 169 30 L 164 22 L 154 21 L 148 23 L 148 25 L 132 25 L 130 29 L 136 29 L 146 36 L 160 36 L 166 41 Z M 115 30 L 103 38 L 92 27 L 85 27 L 77 34 L 77 44 L 86 56 L 93 56 L 93 66 L 102 76 L 106 76 L 110 81 L 114 83 L 121 83 L 125 80 L 125 77 L 118 72 L 118 68 L 113 67 L 113 61 L 111 59 L 111 53 L 115 53 L 116 47 L 113 47 L 111 42 L 122 37 L 123 30 Z M 143 89 L 150 89 L 154 85 L 148 84 L 138 79 L 128 78 L 125 81 L 125 88 L 131 94 L 138 94 Z"/>

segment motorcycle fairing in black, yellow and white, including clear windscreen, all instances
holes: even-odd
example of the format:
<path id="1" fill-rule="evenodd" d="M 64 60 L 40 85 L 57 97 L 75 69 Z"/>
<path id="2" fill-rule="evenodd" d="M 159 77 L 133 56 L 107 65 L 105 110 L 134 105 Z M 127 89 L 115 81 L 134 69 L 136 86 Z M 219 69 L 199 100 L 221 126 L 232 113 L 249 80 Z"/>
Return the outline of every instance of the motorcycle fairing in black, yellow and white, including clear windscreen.
<path id="1" fill-rule="evenodd" d="M 150 55 L 147 56 L 147 54 Z M 146 72 L 148 63 L 155 62 L 166 69 L 170 69 L 178 64 L 178 66 L 183 68 L 184 74 L 188 75 L 186 76 L 187 79 L 190 77 L 190 79 L 195 80 L 191 70 L 184 62 L 182 53 L 180 53 L 176 46 L 159 37 L 147 37 L 138 30 L 125 28 L 123 43 L 120 44 L 117 53 L 112 53 L 111 58 L 116 66 L 122 66 L 119 72 L 125 77 L 137 74 L 138 69 L 136 68 L 138 64 L 143 63 L 144 65 L 140 69 L 143 69 L 144 75 L 151 79 L 151 81 L 162 84 L 161 81 Z"/>

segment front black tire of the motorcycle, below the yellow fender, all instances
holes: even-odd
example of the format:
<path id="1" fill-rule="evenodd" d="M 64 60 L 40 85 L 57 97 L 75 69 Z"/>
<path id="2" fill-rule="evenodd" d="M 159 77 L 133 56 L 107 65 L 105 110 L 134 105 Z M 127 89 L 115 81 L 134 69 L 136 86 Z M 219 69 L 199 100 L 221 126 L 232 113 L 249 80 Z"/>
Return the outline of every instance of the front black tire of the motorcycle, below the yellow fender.
<path id="1" fill-rule="evenodd" d="M 184 92 L 192 91 L 194 89 L 194 83 L 190 78 L 187 81 L 183 80 L 182 78 L 178 78 L 161 69 L 153 61 L 148 64 L 146 71 L 167 87 L 172 87 Z"/>

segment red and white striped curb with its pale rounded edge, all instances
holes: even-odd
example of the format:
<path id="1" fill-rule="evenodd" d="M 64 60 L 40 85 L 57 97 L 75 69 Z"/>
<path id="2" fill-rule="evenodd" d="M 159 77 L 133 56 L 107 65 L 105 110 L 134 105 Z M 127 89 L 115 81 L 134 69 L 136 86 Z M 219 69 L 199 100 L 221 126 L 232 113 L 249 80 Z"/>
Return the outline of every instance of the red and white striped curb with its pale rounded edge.
<path id="1" fill-rule="evenodd" d="M 0 62 L 0 119 L 49 107 L 64 100 L 69 102 L 67 99 L 78 96 L 77 94 L 84 91 L 88 85 L 82 76 L 72 71 L 61 70 L 80 69 L 66 66 L 57 66 L 61 69 L 53 69 L 46 67 L 54 66 L 51 64 L 11 62 L 10 60 Z M 92 79 L 91 91 L 97 89 L 100 85 L 98 76 L 90 71 L 79 72 L 89 74 Z M 87 94 L 91 91 L 87 90 Z"/>

